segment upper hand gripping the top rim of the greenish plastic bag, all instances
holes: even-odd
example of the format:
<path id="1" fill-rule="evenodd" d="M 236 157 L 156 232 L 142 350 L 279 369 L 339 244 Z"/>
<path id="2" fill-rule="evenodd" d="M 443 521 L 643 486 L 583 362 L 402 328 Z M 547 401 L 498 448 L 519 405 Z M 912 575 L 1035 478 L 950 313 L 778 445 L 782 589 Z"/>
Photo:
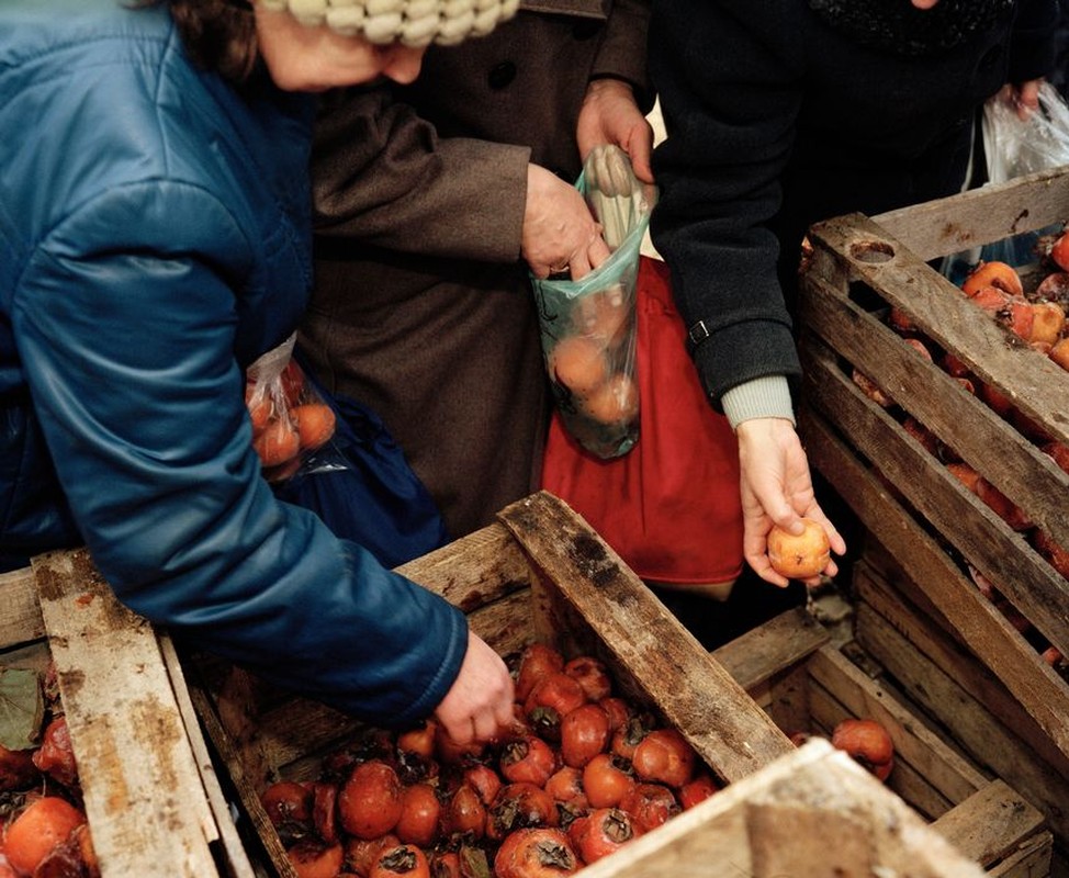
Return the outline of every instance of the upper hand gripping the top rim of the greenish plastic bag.
<path id="1" fill-rule="evenodd" d="M 627 82 L 595 79 L 587 86 L 575 137 L 584 161 L 595 146 L 614 144 L 628 154 L 635 177 L 644 183 L 653 182 L 653 126 L 642 115 Z"/>

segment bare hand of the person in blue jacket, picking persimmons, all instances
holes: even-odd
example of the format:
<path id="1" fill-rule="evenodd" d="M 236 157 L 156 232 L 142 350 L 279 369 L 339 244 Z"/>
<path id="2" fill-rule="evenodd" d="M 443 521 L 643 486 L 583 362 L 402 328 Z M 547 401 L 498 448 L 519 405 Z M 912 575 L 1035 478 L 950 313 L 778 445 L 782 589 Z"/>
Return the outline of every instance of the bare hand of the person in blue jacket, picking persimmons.
<path id="1" fill-rule="evenodd" d="M 458 744 L 492 741 L 511 727 L 513 678 L 502 657 L 482 638 L 468 632 L 468 652 L 460 673 L 435 718 Z"/>

